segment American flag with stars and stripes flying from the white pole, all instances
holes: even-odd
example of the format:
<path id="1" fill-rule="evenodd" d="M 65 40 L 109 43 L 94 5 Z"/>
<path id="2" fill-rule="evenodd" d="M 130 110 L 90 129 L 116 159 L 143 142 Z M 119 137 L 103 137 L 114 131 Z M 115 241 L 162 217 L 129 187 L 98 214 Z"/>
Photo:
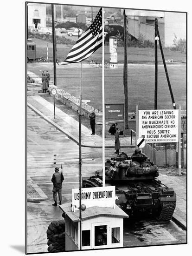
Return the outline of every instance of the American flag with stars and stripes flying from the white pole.
<path id="1" fill-rule="evenodd" d="M 77 63 L 86 60 L 102 46 L 102 8 L 76 44 L 72 47 L 64 62 Z"/>

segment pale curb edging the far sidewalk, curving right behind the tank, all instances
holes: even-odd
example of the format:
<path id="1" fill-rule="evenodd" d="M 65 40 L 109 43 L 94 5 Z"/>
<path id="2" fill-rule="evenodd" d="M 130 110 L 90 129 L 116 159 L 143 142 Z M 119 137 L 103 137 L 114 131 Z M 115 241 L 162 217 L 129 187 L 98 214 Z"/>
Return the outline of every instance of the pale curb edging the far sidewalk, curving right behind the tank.
<path id="1" fill-rule="evenodd" d="M 51 121 L 48 117 L 43 115 L 43 113 L 41 113 L 37 108 L 33 107 L 30 103 L 27 102 L 27 106 L 29 108 L 31 108 L 40 117 L 42 117 L 45 121 L 49 122 L 51 125 L 56 127 L 60 132 L 64 133 L 69 139 L 71 139 L 72 141 L 75 141 L 77 143 L 77 145 L 79 145 L 79 141 L 77 141 L 76 137 L 66 133 L 64 131 L 64 129 L 60 125 L 58 125 L 55 122 Z M 89 145 L 86 145 L 86 144 L 81 144 L 81 146 L 85 147 L 85 148 L 102 148 L 102 146 L 89 146 Z M 105 148 L 114 148 L 114 146 L 105 146 Z M 122 145 L 121 148 L 135 148 L 135 146 L 134 145 Z"/>

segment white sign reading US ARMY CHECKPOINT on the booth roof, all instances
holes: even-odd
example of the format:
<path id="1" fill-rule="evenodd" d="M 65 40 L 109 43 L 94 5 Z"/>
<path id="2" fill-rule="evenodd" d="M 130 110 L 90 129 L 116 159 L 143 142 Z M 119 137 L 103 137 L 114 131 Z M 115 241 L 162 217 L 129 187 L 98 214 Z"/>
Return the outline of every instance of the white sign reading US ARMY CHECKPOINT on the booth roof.
<path id="1" fill-rule="evenodd" d="M 79 189 L 72 189 L 72 209 L 79 207 Z M 98 206 L 115 208 L 115 186 L 83 188 L 81 191 L 81 204 L 86 208 Z"/>

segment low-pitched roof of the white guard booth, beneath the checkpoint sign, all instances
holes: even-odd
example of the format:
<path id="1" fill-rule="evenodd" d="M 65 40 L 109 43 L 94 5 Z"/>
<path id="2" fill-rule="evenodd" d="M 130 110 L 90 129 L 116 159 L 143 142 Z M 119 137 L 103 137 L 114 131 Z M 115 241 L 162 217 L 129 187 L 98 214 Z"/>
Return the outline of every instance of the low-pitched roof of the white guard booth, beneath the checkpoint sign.
<path id="1" fill-rule="evenodd" d="M 79 221 L 79 209 L 76 212 L 72 212 L 71 203 L 62 204 L 59 205 L 59 207 L 73 222 Z M 98 216 L 128 218 L 128 215 L 117 205 L 115 206 L 115 209 L 109 207 L 89 207 L 82 211 L 82 220 L 87 220 Z"/>

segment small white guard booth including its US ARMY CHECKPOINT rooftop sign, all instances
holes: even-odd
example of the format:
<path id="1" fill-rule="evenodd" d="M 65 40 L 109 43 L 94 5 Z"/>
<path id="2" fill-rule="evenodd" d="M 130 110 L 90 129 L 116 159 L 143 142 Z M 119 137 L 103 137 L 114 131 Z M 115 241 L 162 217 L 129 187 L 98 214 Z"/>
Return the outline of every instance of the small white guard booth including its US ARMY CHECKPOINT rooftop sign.
<path id="1" fill-rule="evenodd" d="M 65 250 L 79 249 L 79 189 L 72 189 L 72 204 L 59 207 L 65 219 Z M 82 249 L 123 247 L 122 211 L 115 200 L 115 186 L 82 189 Z M 83 208 L 84 206 L 84 208 Z"/>

